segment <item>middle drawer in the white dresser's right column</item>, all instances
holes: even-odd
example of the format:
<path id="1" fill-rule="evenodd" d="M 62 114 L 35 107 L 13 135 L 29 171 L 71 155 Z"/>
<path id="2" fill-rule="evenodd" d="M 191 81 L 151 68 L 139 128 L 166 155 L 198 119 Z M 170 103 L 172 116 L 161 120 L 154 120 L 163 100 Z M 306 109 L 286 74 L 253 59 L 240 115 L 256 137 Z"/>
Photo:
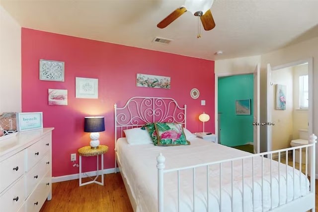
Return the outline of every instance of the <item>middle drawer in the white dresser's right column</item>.
<path id="1" fill-rule="evenodd" d="M 27 197 L 34 187 L 51 170 L 50 153 L 47 153 L 27 174 L 25 178 L 25 196 Z"/>

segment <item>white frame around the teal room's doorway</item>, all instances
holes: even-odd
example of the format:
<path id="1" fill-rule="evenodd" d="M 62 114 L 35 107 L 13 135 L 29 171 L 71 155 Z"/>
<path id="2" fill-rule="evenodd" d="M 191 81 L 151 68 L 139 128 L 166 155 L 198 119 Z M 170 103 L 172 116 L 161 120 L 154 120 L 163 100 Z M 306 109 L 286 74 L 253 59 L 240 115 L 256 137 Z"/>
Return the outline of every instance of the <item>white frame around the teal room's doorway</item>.
<path id="1" fill-rule="evenodd" d="M 256 63 L 257 65 L 257 63 Z M 255 65 L 255 66 L 256 66 Z M 260 66 L 260 64 L 258 64 Z M 219 93 L 219 83 L 218 83 L 218 80 L 219 80 L 219 77 L 223 77 L 223 76 L 236 76 L 236 75 L 244 75 L 244 74 L 254 74 L 255 72 L 255 67 L 250 70 L 250 71 L 242 71 L 242 72 L 239 72 L 239 73 L 214 73 L 214 119 L 215 119 L 215 128 L 214 131 L 215 131 L 215 135 L 217 136 L 217 138 L 219 139 L 219 132 L 218 132 L 218 93 Z M 220 141 L 221 142 L 221 141 Z M 221 143 L 220 143 L 221 144 Z"/>

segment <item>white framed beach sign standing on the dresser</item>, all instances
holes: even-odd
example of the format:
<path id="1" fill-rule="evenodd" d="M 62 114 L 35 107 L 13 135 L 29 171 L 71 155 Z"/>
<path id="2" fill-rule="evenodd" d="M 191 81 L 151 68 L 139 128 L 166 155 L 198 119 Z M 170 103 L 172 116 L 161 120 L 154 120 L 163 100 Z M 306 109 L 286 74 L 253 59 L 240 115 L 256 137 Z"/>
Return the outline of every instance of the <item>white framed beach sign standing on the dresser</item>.
<path id="1" fill-rule="evenodd" d="M 16 130 L 26 131 L 43 128 L 43 113 L 16 113 Z"/>

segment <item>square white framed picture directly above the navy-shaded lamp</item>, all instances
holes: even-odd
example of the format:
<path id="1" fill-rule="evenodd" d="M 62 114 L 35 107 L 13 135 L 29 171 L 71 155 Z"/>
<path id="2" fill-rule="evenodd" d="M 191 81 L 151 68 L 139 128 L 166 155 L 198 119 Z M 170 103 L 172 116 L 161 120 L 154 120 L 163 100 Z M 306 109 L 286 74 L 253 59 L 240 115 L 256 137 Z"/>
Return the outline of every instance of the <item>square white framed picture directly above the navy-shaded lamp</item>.
<path id="1" fill-rule="evenodd" d="M 76 78 L 76 98 L 98 99 L 98 79 Z"/>

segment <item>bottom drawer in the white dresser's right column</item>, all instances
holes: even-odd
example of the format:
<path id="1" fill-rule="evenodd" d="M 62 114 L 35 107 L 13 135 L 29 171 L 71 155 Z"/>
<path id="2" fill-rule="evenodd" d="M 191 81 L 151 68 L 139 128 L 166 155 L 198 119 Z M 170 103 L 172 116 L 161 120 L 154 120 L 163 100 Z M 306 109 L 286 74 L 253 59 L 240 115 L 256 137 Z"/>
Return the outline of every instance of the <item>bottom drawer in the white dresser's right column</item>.
<path id="1" fill-rule="evenodd" d="M 51 191 L 51 172 L 47 172 L 35 190 L 26 199 L 27 212 L 38 212 Z"/>

